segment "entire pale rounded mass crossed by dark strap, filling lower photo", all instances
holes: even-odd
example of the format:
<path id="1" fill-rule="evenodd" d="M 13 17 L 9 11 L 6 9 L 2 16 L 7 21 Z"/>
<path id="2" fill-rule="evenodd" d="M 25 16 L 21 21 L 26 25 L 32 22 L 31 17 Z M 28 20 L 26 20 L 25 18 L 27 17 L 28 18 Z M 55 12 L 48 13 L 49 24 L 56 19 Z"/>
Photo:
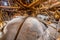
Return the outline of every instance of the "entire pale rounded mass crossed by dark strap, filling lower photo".
<path id="1" fill-rule="evenodd" d="M 23 25 L 21 25 L 22 23 Z M 50 25 L 56 28 L 55 24 Z M 28 17 L 27 19 L 17 17 L 8 22 L 6 26 L 8 31 L 2 40 L 57 40 L 60 33 L 57 29 L 47 26 L 46 28 L 44 23 L 34 17 Z"/>

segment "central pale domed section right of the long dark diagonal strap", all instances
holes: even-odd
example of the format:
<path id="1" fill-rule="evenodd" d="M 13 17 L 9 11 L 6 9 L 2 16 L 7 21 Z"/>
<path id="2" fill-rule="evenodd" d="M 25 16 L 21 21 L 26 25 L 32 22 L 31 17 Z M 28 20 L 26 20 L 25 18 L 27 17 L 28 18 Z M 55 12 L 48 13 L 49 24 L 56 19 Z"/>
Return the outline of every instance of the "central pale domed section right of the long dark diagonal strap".
<path id="1" fill-rule="evenodd" d="M 24 22 L 16 40 L 43 40 L 44 24 L 33 17 Z"/>

